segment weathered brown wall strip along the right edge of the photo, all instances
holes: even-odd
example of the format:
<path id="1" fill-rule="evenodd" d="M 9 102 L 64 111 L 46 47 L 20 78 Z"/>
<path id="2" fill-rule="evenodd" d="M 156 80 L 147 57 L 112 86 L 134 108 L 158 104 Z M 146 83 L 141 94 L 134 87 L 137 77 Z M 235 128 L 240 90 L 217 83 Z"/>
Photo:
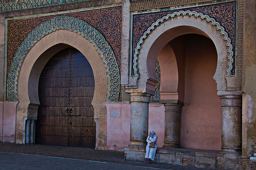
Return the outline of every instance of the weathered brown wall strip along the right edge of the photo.
<path id="1" fill-rule="evenodd" d="M 245 0 L 244 3 L 244 26 L 243 26 L 243 79 L 242 91 L 243 122 L 247 128 L 243 144 L 243 156 L 251 156 L 256 151 L 256 2 Z"/>

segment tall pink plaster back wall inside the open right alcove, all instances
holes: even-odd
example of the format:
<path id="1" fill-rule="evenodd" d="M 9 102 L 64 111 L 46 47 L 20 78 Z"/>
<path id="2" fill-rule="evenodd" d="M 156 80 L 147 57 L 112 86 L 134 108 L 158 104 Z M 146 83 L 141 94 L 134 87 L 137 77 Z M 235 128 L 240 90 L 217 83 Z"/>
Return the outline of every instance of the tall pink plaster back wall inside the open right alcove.
<path id="1" fill-rule="evenodd" d="M 210 39 L 195 34 L 177 37 L 172 44 L 184 40 L 185 95 L 181 111 L 181 147 L 221 150 L 221 101 L 217 96 L 217 84 L 212 79 L 217 67 L 216 48 Z"/>

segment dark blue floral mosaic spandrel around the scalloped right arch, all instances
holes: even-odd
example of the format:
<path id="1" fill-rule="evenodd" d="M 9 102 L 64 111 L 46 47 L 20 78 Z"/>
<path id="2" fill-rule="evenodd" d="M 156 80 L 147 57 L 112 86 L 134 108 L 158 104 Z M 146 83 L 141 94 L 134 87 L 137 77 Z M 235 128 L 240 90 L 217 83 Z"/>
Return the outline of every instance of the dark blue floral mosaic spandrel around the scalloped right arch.
<path id="1" fill-rule="evenodd" d="M 219 26 L 220 29 L 225 34 L 224 36 L 227 39 L 230 39 L 230 61 L 229 61 L 229 68 L 227 72 L 229 75 L 236 74 L 236 60 L 235 57 L 235 41 L 236 41 L 236 32 L 235 32 L 235 21 L 236 21 L 236 2 L 229 2 L 229 3 L 221 3 L 216 5 L 209 5 L 209 6 L 200 6 L 194 8 L 186 8 L 186 9 L 179 9 L 173 11 L 162 11 L 162 12 L 152 12 L 152 13 L 142 13 L 133 15 L 133 30 L 132 30 L 132 65 L 135 63 L 136 59 L 135 56 L 135 49 L 137 48 L 138 43 L 140 42 L 141 37 L 145 34 L 146 31 L 150 29 L 150 27 L 157 22 L 157 20 L 162 19 L 165 16 L 170 16 L 171 14 L 179 13 L 180 11 L 190 11 L 187 15 L 193 15 L 194 12 L 200 14 L 199 16 L 205 16 L 205 19 L 212 20 L 214 19 L 216 26 Z M 194 14 L 195 15 L 195 14 Z M 178 16 L 178 15 L 176 15 Z M 173 17 L 176 17 L 173 16 Z M 157 26 L 157 25 L 155 25 Z M 138 73 L 134 72 L 137 70 L 137 66 L 132 66 L 132 75 L 137 75 Z"/>

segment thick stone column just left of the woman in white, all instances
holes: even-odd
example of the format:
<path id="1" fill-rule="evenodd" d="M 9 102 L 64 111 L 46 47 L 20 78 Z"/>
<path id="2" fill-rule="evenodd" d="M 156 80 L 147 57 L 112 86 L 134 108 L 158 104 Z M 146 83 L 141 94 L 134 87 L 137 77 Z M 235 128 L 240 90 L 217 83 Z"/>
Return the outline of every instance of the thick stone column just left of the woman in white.
<path id="1" fill-rule="evenodd" d="M 139 89 L 127 89 L 130 94 L 131 122 L 130 145 L 133 147 L 145 147 L 148 137 L 148 104 L 151 94 L 143 93 Z"/>

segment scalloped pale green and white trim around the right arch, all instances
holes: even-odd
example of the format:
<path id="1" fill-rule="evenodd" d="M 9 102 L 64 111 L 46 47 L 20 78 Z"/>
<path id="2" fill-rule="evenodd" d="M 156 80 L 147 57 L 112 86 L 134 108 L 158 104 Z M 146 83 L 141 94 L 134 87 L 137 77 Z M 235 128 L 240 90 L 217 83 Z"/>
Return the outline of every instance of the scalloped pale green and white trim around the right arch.
<path id="1" fill-rule="evenodd" d="M 209 15 L 204 15 L 201 12 L 187 10 L 187 11 L 179 11 L 179 12 L 173 12 L 171 14 L 167 14 L 166 16 L 162 17 L 161 19 L 158 19 L 156 22 L 152 23 L 152 25 L 147 29 L 147 31 L 145 31 L 143 33 L 143 36 L 140 37 L 140 40 L 137 43 L 137 46 L 135 48 L 135 53 L 133 54 L 133 69 L 134 69 L 135 76 L 138 76 L 140 74 L 139 68 L 138 68 L 138 57 L 140 54 L 141 45 L 143 45 L 144 41 L 149 36 L 149 34 L 151 34 L 152 31 L 154 31 L 154 29 L 156 29 L 158 26 L 160 26 L 163 22 L 166 22 L 167 20 L 170 20 L 174 17 L 183 16 L 183 15 L 198 17 L 203 20 L 206 20 L 207 22 L 212 24 L 218 31 L 220 31 L 221 36 L 223 37 L 223 39 L 226 42 L 226 46 L 227 46 L 227 50 L 228 50 L 228 67 L 226 69 L 227 76 L 229 76 L 231 74 L 232 63 L 233 63 L 233 58 L 232 58 L 233 46 L 231 44 L 231 39 L 228 37 L 228 33 L 225 32 L 225 29 L 223 28 L 223 26 L 220 25 L 220 23 L 216 22 L 215 19 L 210 18 Z"/>

